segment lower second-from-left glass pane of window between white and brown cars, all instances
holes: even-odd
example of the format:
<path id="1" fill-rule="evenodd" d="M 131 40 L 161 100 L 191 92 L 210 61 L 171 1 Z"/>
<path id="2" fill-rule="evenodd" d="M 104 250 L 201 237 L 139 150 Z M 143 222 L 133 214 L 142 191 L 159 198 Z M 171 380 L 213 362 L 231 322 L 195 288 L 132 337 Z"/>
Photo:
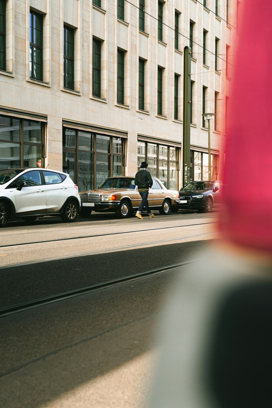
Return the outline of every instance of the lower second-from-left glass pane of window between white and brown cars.
<path id="1" fill-rule="evenodd" d="M 93 190 L 93 153 L 78 152 L 78 188 L 80 191 Z"/>

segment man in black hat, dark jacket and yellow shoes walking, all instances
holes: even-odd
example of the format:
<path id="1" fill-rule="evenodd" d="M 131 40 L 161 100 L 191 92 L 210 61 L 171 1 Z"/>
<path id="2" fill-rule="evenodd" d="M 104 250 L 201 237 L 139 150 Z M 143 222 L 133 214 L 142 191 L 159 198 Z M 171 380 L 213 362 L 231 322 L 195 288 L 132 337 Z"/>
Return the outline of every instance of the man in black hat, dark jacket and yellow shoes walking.
<path id="1" fill-rule="evenodd" d="M 149 215 L 149 218 L 154 217 L 154 214 L 151 213 L 150 208 L 148 206 L 148 193 L 149 193 L 149 187 L 152 187 L 153 180 L 152 177 L 147 170 L 148 164 L 146 162 L 142 162 L 140 166 L 140 170 L 138 173 L 135 175 L 135 184 L 138 186 L 138 191 L 140 193 L 140 196 L 142 197 L 142 202 L 139 205 L 138 211 L 136 213 L 136 217 L 143 219 L 141 212 L 143 211 L 144 207 L 146 208 L 146 212 Z"/>

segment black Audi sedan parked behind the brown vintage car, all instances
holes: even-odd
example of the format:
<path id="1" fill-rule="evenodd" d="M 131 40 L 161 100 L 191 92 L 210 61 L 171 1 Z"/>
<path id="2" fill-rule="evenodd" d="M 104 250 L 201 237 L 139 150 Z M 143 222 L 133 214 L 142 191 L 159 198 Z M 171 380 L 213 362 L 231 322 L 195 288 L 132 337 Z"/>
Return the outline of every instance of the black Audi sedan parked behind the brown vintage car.
<path id="1" fill-rule="evenodd" d="M 219 180 L 192 181 L 179 190 L 179 200 L 175 200 L 171 211 L 176 213 L 179 209 L 190 209 L 210 213 L 221 202 L 221 186 Z"/>

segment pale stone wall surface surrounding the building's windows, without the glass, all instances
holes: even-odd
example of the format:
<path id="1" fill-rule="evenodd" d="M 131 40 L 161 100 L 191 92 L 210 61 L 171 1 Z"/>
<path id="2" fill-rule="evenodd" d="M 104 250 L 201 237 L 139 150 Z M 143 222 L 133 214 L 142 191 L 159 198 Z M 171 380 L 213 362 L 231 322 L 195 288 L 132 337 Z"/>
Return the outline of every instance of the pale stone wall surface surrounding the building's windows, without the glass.
<path id="1" fill-rule="evenodd" d="M 170 0 L 163 5 L 163 42 L 157 40 L 158 4 L 146 0 L 145 31 L 139 32 L 139 3 L 125 1 L 125 22 L 117 19 L 117 0 L 102 0 L 99 9 L 89 0 L 7 0 L 7 71 L 0 71 L 0 105 L 48 115 L 46 163 L 62 169 L 62 120 L 104 126 L 128 132 L 126 175 L 137 171 L 137 135 L 182 142 L 183 55 L 193 31 L 192 146 L 208 147 L 208 131 L 202 128 L 202 86 L 207 86 L 206 112 L 214 112 L 218 92 L 217 132 L 211 132 L 211 148 L 219 151 L 224 137 L 226 44 L 229 63 L 234 62 L 236 1 L 207 0 L 208 9 L 195 0 Z M 135 7 L 137 6 L 137 7 Z M 29 8 L 44 14 L 44 82 L 29 78 Z M 174 49 L 175 10 L 179 15 L 179 51 Z M 156 17 L 156 18 L 153 18 Z M 75 91 L 63 88 L 63 25 L 75 29 Z M 168 27 L 169 26 L 169 27 Z M 173 29 L 171 29 L 171 27 Z M 203 29 L 206 35 L 206 66 L 202 61 Z M 92 38 L 102 40 L 101 99 L 92 96 Z M 215 72 L 215 37 L 219 39 L 218 72 Z M 117 104 L 117 47 L 125 51 L 125 106 Z M 209 52 L 210 51 L 210 52 Z M 145 111 L 138 106 L 139 57 L 145 64 Z M 222 58 L 222 59 L 220 59 Z M 163 117 L 157 115 L 157 67 L 163 68 Z M 229 66 L 231 67 L 231 65 Z M 232 70 L 229 69 L 231 77 Z M 179 77 L 179 120 L 174 120 L 174 75 Z M 208 127 L 208 126 L 207 126 Z M 182 175 L 180 175 L 181 184 Z"/>

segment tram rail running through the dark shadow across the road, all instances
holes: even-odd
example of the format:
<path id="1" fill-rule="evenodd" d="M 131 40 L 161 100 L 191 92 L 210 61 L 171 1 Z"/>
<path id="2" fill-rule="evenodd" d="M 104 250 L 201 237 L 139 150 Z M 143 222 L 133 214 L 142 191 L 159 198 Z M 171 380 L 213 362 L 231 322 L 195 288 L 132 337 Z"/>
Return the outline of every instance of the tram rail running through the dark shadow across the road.
<path id="1" fill-rule="evenodd" d="M 91 292 L 94 292 L 96 290 L 102 290 L 102 289 L 105 289 L 105 288 L 109 288 L 111 286 L 132 282 L 132 281 L 134 281 L 136 279 L 142 279 L 144 277 L 157 275 L 159 273 L 171 272 L 171 271 L 174 271 L 175 269 L 180 268 L 182 266 L 192 264 L 193 262 L 195 262 L 195 260 L 190 260 L 190 261 L 182 262 L 182 263 L 179 263 L 179 264 L 170 265 L 170 266 L 167 266 L 167 267 L 164 267 L 164 268 L 154 269 L 154 270 L 151 270 L 151 271 L 137 273 L 137 274 L 134 274 L 134 275 L 129 275 L 129 276 L 125 276 L 125 277 L 121 277 L 121 278 L 117 278 L 117 279 L 112 279 L 112 280 L 102 282 L 102 283 L 99 283 L 99 284 L 94 284 L 94 285 L 90 285 L 90 286 L 85 286 L 83 288 L 77 288 L 77 289 L 74 289 L 74 290 L 69 290 L 69 291 L 66 291 L 66 292 L 58 293 L 56 295 L 42 297 L 42 298 L 31 300 L 31 301 L 28 301 L 28 302 L 14 304 L 14 305 L 11 305 L 11 306 L 8 306 L 8 307 L 5 307 L 5 308 L 1 308 L 0 309 L 0 318 L 7 317 L 7 316 L 12 315 L 14 313 L 19 313 L 19 312 L 23 312 L 23 311 L 26 311 L 26 310 L 30 310 L 30 309 L 33 309 L 33 308 L 36 308 L 36 307 L 53 304 L 55 302 L 59 302 L 59 301 L 65 300 L 65 299 L 71 299 L 72 297 L 76 297 L 76 296 L 84 295 L 84 294 L 87 294 L 87 293 L 91 293 Z"/>

